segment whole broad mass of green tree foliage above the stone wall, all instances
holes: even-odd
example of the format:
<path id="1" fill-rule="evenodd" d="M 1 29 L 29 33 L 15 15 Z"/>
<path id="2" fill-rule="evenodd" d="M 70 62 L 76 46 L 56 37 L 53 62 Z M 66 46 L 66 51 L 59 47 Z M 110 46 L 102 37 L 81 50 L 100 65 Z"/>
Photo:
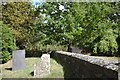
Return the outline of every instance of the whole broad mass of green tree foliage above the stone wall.
<path id="1" fill-rule="evenodd" d="M 63 6 L 63 9 L 60 9 Z M 94 53 L 116 53 L 119 36 L 118 3 L 47 2 L 37 11 L 44 15 L 35 23 L 43 44 L 72 44 Z M 42 25 L 42 26 L 41 26 Z"/>

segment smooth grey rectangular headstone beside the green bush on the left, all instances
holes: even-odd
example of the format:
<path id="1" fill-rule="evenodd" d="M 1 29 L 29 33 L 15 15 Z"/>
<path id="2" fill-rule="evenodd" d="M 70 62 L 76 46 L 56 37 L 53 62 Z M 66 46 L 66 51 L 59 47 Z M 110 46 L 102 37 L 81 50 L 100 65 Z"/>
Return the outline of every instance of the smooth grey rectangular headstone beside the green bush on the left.
<path id="1" fill-rule="evenodd" d="M 12 52 L 12 71 L 25 68 L 25 50 L 16 50 Z"/>

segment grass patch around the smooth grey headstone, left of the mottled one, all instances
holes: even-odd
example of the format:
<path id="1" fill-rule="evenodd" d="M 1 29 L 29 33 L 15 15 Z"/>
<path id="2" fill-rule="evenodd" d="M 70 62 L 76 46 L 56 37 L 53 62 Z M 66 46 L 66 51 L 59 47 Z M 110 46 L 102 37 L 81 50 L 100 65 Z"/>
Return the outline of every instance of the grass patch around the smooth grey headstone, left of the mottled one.
<path id="1" fill-rule="evenodd" d="M 39 58 L 26 58 L 26 67 L 23 70 L 12 71 L 12 61 L 4 64 L 2 66 L 2 77 L 3 78 L 32 78 L 31 72 L 34 70 L 34 63 L 36 63 Z"/>

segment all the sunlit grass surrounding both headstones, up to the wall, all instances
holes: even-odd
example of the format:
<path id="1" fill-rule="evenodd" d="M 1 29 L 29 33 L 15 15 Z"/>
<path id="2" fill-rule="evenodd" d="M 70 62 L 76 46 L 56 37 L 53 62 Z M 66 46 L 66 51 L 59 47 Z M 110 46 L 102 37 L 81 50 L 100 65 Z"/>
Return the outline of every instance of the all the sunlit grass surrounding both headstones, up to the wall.
<path id="1" fill-rule="evenodd" d="M 26 67 L 23 70 L 12 71 L 12 61 L 6 64 L 2 64 L 2 78 L 34 78 L 34 64 L 40 60 L 40 58 L 26 58 Z M 62 66 L 55 60 L 51 59 L 51 73 L 44 78 L 62 78 L 64 76 Z"/>

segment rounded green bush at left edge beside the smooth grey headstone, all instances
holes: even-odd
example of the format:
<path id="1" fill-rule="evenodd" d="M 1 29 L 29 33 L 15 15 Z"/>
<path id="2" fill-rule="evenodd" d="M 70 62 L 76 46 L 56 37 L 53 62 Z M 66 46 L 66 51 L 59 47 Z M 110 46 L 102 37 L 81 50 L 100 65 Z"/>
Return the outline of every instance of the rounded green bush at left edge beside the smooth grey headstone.
<path id="1" fill-rule="evenodd" d="M 2 61 L 7 62 L 11 59 L 11 52 L 12 50 L 16 49 L 15 39 L 12 36 L 10 29 L 0 21 L 0 36 L 2 41 L 0 42 L 1 51 L 2 51 Z"/>

